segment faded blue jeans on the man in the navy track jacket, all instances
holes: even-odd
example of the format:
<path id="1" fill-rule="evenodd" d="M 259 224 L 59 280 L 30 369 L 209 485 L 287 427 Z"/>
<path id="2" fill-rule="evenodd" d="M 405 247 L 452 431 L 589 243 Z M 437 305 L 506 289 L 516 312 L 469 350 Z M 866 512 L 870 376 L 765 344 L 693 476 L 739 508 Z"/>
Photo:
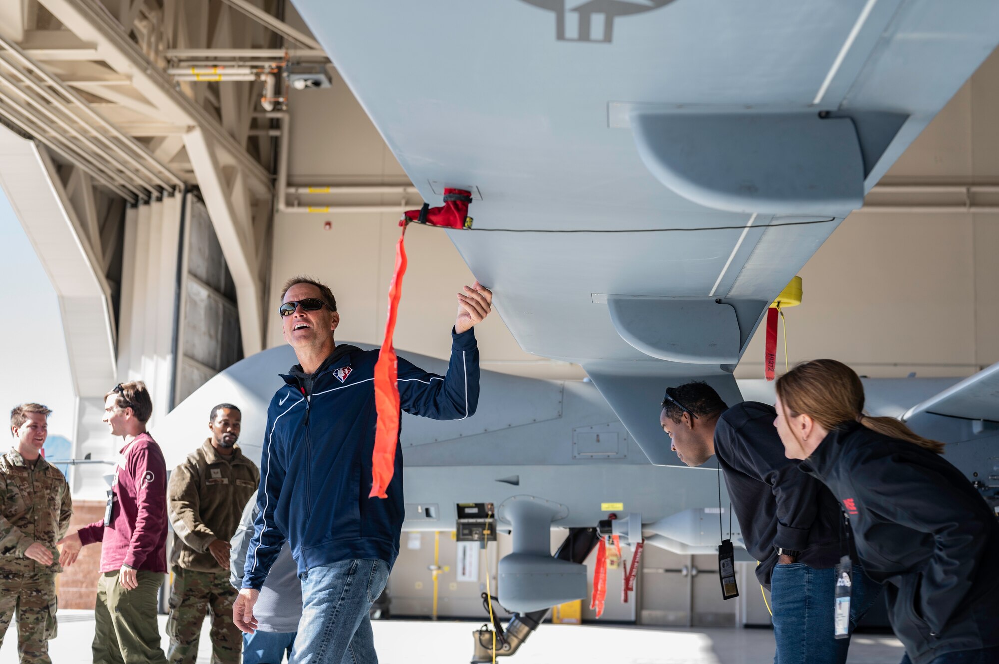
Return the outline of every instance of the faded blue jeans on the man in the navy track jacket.
<path id="1" fill-rule="evenodd" d="M 368 615 L 389 580 L 389 564 L 370 558 L 302 574 L 302 620 L 292 664 L 378 664 Z"/>

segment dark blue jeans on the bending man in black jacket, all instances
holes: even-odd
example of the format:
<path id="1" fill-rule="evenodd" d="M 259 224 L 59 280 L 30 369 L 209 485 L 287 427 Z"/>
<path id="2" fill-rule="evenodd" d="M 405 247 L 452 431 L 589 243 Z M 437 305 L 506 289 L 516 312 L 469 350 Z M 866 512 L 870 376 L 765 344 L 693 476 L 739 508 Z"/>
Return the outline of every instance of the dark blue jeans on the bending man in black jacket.
<path id="1" fill-rule="evenodd" d="M 777 564 L 770 579 L 774 664 L 844 664 L 850 639 L 833 636 L 836 570 L 803 562 Z M 853 566 L 850 631 L 877 598 L 881 586 Z"/>

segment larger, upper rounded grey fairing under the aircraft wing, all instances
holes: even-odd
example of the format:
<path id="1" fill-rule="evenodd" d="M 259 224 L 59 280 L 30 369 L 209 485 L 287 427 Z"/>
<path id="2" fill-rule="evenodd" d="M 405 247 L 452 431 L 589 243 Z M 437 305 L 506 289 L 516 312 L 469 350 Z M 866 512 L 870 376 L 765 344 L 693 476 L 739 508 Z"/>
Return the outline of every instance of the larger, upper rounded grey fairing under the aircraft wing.
<path id="1" fill-rule="evenodd" d="M 863 204 L 864 161 L 849 118 L 638 110 L 631 131 L 651 173 L 705 207 L 846 216 Z"/>

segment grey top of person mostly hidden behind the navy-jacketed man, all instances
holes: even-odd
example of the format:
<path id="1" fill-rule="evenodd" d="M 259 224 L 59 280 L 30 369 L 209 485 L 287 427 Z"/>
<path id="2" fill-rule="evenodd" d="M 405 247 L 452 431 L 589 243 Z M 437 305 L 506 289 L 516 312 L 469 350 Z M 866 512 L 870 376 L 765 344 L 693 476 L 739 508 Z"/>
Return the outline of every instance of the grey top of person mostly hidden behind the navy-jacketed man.
<path id="1" fill-rule="evenodd" d="M 257 518 L 257 512 L 257 495 L 254 494 L 243 510 L 240 527 L 230 542 L 233 549 L 229 580 L 236 588 L 243 585 L 243 567 L 253 538 L 253 522 Z M 257 603 L 254 604 L 253 614 L 257 618 L 257 628 L 261 631 L 296 632 L 299 629 L 299 620 L 302 618 L 302 582 L 288 542 L 281 547 L 278 558 L 268 572 Z"/>

